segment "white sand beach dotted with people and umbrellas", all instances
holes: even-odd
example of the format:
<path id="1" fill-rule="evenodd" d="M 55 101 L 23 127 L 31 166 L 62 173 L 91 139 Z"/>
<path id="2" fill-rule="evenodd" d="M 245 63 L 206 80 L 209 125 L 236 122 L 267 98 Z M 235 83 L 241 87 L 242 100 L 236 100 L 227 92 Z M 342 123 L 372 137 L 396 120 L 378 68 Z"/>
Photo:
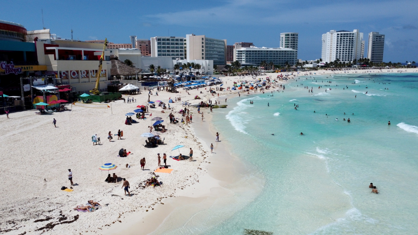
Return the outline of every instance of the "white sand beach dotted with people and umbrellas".
<path id="1" fill-rule="evenodd" d="M 395 73 L 398 69 L 349 70 L 351 73 Z M 400 71 L 401 69 L 399 69 Z M 405 71 L 406 69 L 402 69 Z M 407 69 L 416 72 L 417 69 Z M 344 73 L 344 71 L 320 70 L 311 72 L 316 75 Z M 284 74 L 284 73 L 279 73 Z M 309 75 L 300 72 L 295 76 Z M 277 73 L 267 73 L 275 79 Z M 309 75 L 314 76 L 314 75 Z M 265 78 L 267 76 L 259 76 Z M 252 80 L 246 77 L 221 77 L 223 87 L 232 87 L 233 81 Z M 285 81 L 281 81 L 285 82 Z M 276 83 L 273 86 L 277 86 Z M 214 86 L 212 86 L 214 87 Z M 208 88 L 209 89 L 209 88 Z M 200 92 L 204 94 L 200 94 Z M 219 92 L 222 97 L 206 94 L 207 90 L 193 89 L 188 95 L 183 89 L 181 93 L 158 92 L 158 96 L 151 95 L 150 100 L 161 100 L 168 103 L 181 97 L 181 101 L 197 103 L 193 100 L 196 95 L 203 101 L 219 100 L 225 104 L 225 95 L 237 96 L 238 91 Z M 218 92 L 218 91 L 217 91 Z M 145 148 L 146 138 L 142 133 L 149 132 L 151 118 L 139 120 L 133 125 L 125 125 L 125 113 L 133 112 L 137 105 L 147 105 L 148 93 L 131 95 L 135 103 L 124 103 L 123 100 L 111 102 L 112 108 L 97 109 L 67 105 L 69 110 L 54 112 L 51 115 L 36 115 L 35 110 L 12 112 L 10 119 L 0 116 L 2 130 L 0 146 L 2 176 L 4 183 L 0 185 L 3 192 L 1 204 L 0 233 L 4 234 L 148 234 L 167 232 L 176 229 L 178 224 L 184 224 L 189 215 L 196 210 L 209 208 L 219 197 L 225 202 L 233 200 L 234 192 L 243 187 L 252 187 L 261 191 L 258 181 L 247 182 L 248 185 L 237 186 L 242 176 L 236 174 L 240 170 L 240 161 L 228 152 L 227 141 L 219 142 L 215 146 L 222 152 L 214 156 L 210 153 L 209 141 L 214 141 L 216 127 L 210 126 L 209 109 L 204 110 L 204 122 L 197 113 L 197 109 L 190 108 L 193 123 L 171 124 L 168 120 L 170 111 L 161 113 L 161 107 L 149 109 L 152 117 L 162 117 L 163 125 L 168 131 L 161 135 L 164 145 L 157 148 Z M 155 90 L 153 91 L 155 94 Z M 246 95 L 241 93 L 242 95 Z M 253 94 L 250 92 L 250 94 Z M 228 103 L 226 103 L 228 104 Z M 171 103 L 171 112 L 180 117 L 179 110 L 183 109 L 181 102 Z M 228 108 L 226 108 L 228 109 Z M 133 116 L 135 117 L 135 116 Z M 56 119 L 56 128 L 52 124 Z M 123 130 L 122 140 L 114 136 L 109 142 L 107 133 L 116 134 Z M 217 131 L 217 130 L 216 130 Z M 215 132 L 216 132 L 215 131 Z M 97 134 L 101 144 L 93 146 L 91 137 Z M 179 151 L 171 149 L 177 145 L 184 145 L 179 151 L 189 155 L 189 148 L 194 151 L 194 161 L 175 161 L 167 158 L 167 165 L 173 171 L 168 173 L 154 173 L 158 168 L 157 153 L 161 156 L 177 156 Z M 215 143 L 214 143 L 215 145 Z M 119 157 L 118 151 L 124 148 L 131 152 L 127 157 Z M 140 159 L 146 159 L 145 170 L 140 169 Z M 101 171 L 99 167 L 104 163 L 114 163 L 115 170 Z M 125 165 L 129 164 L 130 168 Z M 161 159 L 163 165 L 163 160 Z M 235 169 L 232 169 L 232 166 Z M 61 186 L 70 188 L 68 169 L 73 173 L 73 192 L 61 191 Z M 228 169 L 232 169 L 229 171 Z M 115 173 L 126 178 L 130 183 L 132 197 L 124 195 L 122 182 L 107 183 L 107 174 Z M 245 174 L 242 173 L 242 174 Z M 151 176 L 162 181 L 161 187 L 143 187 L 144 181 Z M 260 176 L 261 177 L 261 176 Z M 240 183 L 241 184 L 241 183 Z M 256 185 L 260 186 L 257 187 Z M 258 190 L 258 191 L 257 191 Z M 115 196 L 112 196 L 115 195 Z M 94 212 L 78 212 L 73 208 L 94 200 L 102 205 Z M 222 205 L 217 205 L 222 206 Z M 198 208 L 197 208 L 198 207 Z M 147 211 L 148 210 L 148 211 Z M 185 211 L 181 219 L 173 218 L 171 213 Z M 225 212 L 224 218 L 232 212 Z M 178 220 L 176 220 L 178 219 Z M 164 226 L 160 226 L 162 223 Z M 213 221 L 215 223 L 216 221 Z M 147 224 L 143 226 L 141 224 Z"/>

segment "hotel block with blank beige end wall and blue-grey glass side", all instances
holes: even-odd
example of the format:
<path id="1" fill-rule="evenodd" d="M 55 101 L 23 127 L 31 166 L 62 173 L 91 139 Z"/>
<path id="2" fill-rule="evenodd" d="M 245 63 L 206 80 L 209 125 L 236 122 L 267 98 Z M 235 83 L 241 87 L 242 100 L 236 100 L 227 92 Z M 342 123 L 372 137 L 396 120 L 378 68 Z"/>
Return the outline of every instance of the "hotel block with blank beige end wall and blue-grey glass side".
<path id="1" fill-rule="evenodd" d="M 227 40 L 186 34 L 187 59 L 213 60 L 215 65 L 227 63 Z"/>

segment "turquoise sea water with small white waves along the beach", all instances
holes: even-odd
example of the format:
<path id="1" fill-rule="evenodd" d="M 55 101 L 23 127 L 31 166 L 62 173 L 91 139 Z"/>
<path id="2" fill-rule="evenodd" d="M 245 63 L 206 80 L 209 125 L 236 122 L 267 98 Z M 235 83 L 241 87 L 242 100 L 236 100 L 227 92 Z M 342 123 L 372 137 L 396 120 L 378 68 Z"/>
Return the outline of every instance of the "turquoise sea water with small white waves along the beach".
<path id="1" fill-rule="evenodd" d="M 301 77 L 281 91 L 236 97 L 215 111 L 221 141 L 256 166 L 265 186 L 202 232 L 418 233 L 418 74 Z"/>

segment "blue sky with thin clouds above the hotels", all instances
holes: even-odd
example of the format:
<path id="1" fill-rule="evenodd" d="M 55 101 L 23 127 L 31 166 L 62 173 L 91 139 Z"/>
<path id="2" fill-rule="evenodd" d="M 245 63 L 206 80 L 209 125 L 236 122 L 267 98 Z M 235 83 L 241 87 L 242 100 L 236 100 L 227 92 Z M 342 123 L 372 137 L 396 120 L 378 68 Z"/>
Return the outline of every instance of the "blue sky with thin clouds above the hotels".
<path id="1" fill-rule="evenodd" d="M 129 36 L 185 36 L 194 33 L 256 46 L 278 47 L 281 32 L 299 33 L 298 58 L 321 57 L 321 35 L 359 29 L 385 34 L 384 61 L 418 61 L 418 1 L 151 0 L 19 1 L 3 0 L 0 19 L 27 30 L 46 28 L 61 38 L 108 38 L 129 43 Z M 169 35 L 168 35 L 169 32 Z"/>

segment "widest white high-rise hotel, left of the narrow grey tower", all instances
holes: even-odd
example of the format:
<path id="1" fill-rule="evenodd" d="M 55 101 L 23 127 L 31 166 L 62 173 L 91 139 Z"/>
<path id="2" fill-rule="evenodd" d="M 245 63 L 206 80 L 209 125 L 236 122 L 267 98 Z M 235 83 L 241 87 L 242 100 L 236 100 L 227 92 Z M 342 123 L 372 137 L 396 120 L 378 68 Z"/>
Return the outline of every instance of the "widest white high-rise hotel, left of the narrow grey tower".
<path id="1" fill-rule="evenodd" d="M 362 58 L 364 51 L 363 33 L 358 29 L 350 31 L 331 30 L 322 34 L 322 60 L 332 62 L 339 59 L 341 62 L 351 62 Z M 363 50 L 362 50 L 363 49 Z"/>

